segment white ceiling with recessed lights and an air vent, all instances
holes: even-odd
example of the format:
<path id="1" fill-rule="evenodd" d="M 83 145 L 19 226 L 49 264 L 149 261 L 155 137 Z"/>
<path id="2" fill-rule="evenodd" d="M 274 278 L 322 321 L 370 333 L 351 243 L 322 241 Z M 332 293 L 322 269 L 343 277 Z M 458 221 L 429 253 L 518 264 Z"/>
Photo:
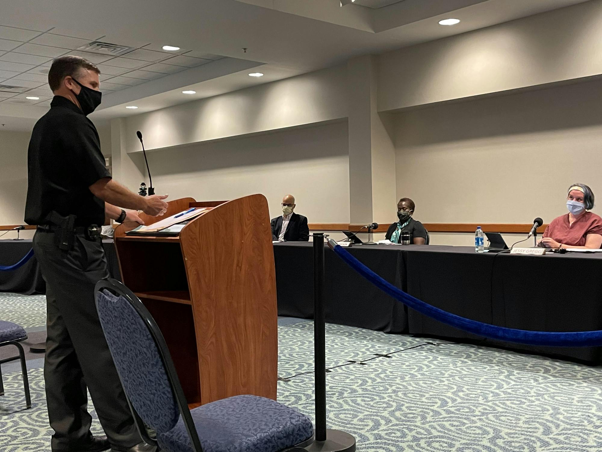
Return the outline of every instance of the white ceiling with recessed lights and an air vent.
<path id="1" fill-rule="evenodd" d="M 0 84 L 23 93 L 0 92 L 0 124 L 6 124 L 4 130 L 30 129 L 48 108 L 51 92 L 45 78 L 52 58 L 93 40 L 135 48 L 120 57 L 86 55 L 102 71 L 103 103 L 94 116 L 104 120 L 583 1 L 403 0 L 385 5 L 391 0 L 357 0 L 343 8 L 339 0 L 4 1 Z M 462 22 L 437 24 L 446 17 Z M 163 45 L 182 50 L 173 55 Z M 248 77 L 255 71 L 265 77 Z M 183 95 L 187 88 L 197 95 Z M 30 102 L 27 95 L 40 99 Z M 140 108 L 125 110 L 132 102 Z"/>

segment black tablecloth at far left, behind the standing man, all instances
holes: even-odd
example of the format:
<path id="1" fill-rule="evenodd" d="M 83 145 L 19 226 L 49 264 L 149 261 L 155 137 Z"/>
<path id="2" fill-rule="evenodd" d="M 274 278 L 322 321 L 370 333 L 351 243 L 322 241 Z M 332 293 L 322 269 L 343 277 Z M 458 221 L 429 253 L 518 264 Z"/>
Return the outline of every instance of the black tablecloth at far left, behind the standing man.
<path id="1" fill-rule="evenodd" d="M 121 280 L 119 262 L 113 240 L 102 240 L 111 277 Z M 31 250 L 31 239 L 0 240 L 0 265 L 13 265 Z M 46 283 L 42 277 L 36 256 L 16 270 L 0 271 L 0 292 L 36 295 L 46 293 Z"/>

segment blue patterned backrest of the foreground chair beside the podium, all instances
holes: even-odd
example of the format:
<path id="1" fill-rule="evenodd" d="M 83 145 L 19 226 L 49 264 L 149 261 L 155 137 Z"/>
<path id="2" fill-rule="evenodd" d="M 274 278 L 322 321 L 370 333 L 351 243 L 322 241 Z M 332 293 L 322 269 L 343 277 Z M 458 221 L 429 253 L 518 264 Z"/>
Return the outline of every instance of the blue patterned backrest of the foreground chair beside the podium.
<path id="1" fill-rule="evenodd" d="M 202 452 L 178 374 L 151 313 L 112 279 L 96 284 L 96 310 L 134 410 L 158 434 L 169 432 L 182 416 L 194 450 Z"/>

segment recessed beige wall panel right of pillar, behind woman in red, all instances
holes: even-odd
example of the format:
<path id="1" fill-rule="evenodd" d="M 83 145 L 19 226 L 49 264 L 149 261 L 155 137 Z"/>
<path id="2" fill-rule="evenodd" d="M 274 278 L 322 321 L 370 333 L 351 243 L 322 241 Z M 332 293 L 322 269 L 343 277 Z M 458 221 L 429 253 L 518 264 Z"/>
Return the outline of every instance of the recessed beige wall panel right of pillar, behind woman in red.
<path id="1" fill-rule="evenodd" d="M 574 182 L 602 196 L 600 92 L 590 81 L 396 115 L 397 196 L 427 223 L 550 222 Z"/>

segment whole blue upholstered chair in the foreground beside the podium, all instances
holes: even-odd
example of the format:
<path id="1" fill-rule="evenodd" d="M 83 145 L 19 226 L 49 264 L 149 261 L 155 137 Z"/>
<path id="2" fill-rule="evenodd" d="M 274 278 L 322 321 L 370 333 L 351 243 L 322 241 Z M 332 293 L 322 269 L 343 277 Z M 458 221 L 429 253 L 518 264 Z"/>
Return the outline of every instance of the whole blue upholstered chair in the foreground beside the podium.
<path id="1" fill-rule="evenodd" d="M 237 395 L 188 410 L 163 335 L 134 293 L 100 281 L 96 309 L 145 441 L 154 444 L 143 422 L 169 452 L 292 452 L 311 443 L 307 416 L 264 397 Z"/>

